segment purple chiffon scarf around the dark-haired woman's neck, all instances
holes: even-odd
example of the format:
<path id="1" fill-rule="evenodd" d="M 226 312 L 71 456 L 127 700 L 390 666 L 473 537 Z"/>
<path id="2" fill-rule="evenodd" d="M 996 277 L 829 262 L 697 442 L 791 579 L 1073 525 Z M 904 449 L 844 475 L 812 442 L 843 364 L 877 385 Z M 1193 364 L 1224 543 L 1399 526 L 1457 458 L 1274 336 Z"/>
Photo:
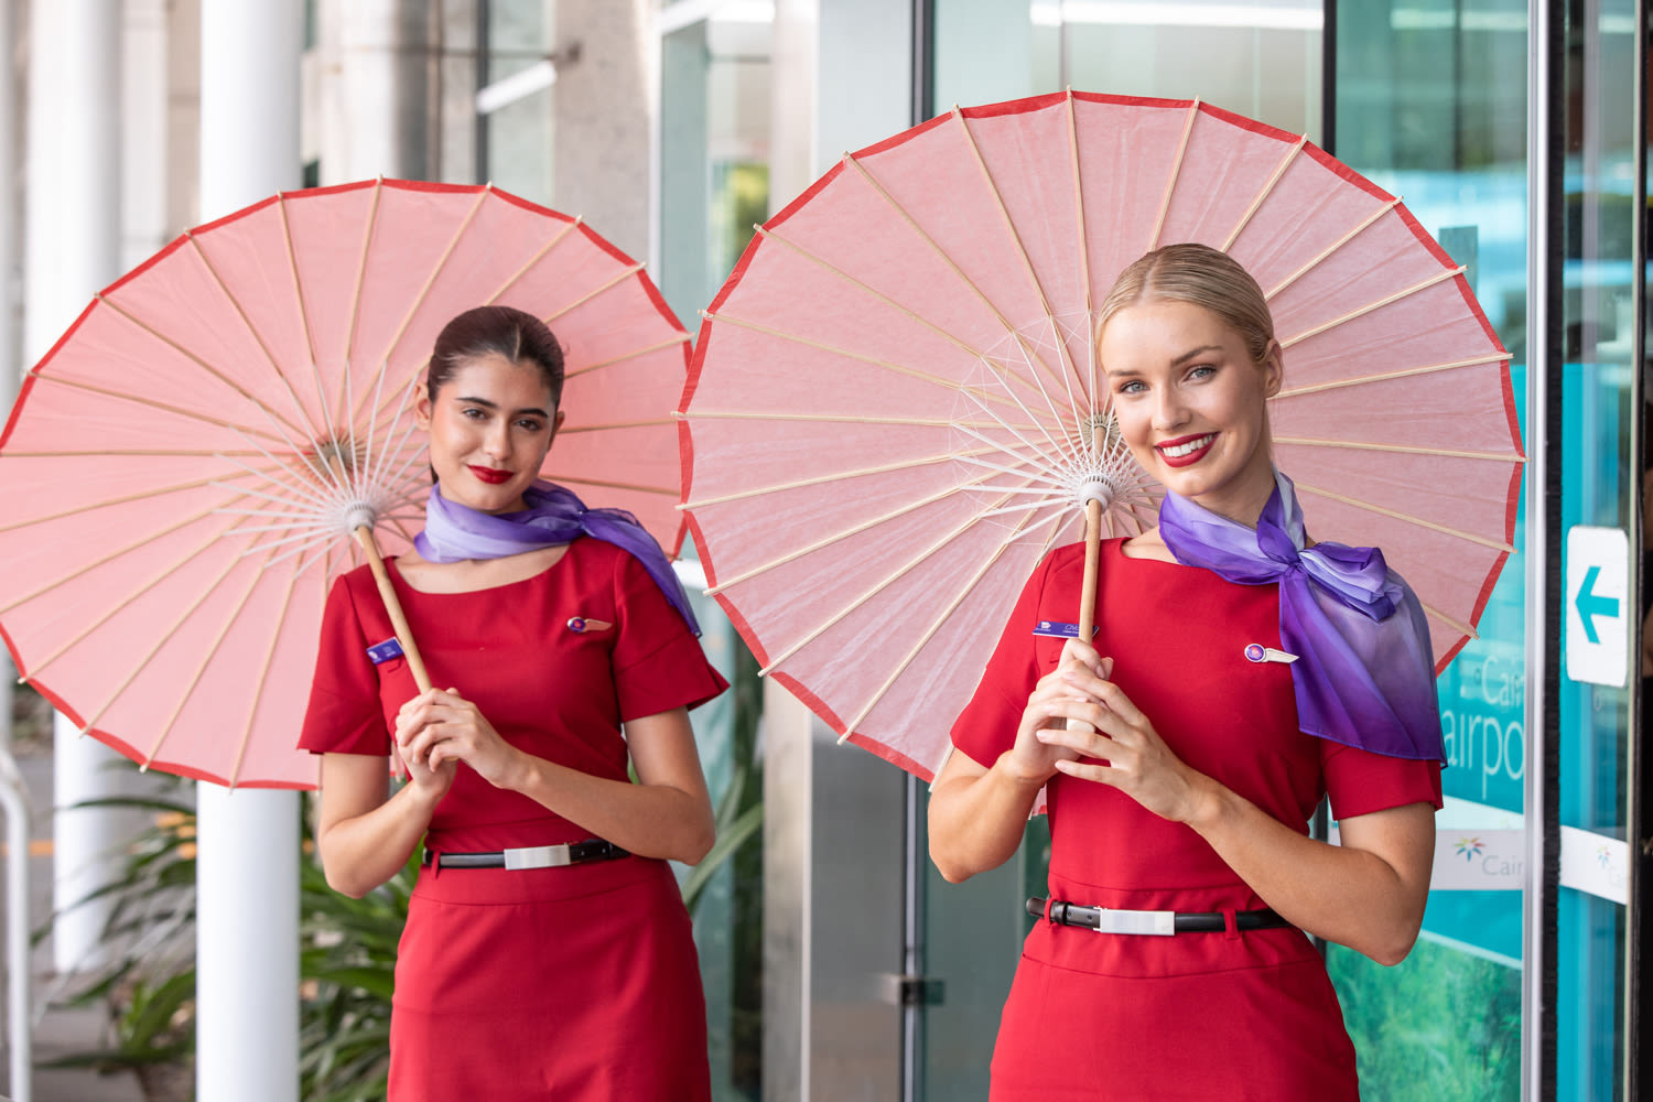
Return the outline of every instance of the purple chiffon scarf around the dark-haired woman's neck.
<path id="1" fill-rule="evenodd" d="M 689 631 L 701 633 L 694 610 L 689 608 L 689 595 L 671 568 L 671 560 L 630 512 L 587 509 L 574 491 L 544 479 L 527 487 L 522 501 L 527 509 L 517 512 L 478 512 L 448 501 L 441 496 L 441 484 L 435 484 L 425 507 L 425 530 L 413 537 L 413 547 L 426 562 L 460 562 L 504 558 L 590 535 L 643 563 L 648 577 L 689 625 Z"/>

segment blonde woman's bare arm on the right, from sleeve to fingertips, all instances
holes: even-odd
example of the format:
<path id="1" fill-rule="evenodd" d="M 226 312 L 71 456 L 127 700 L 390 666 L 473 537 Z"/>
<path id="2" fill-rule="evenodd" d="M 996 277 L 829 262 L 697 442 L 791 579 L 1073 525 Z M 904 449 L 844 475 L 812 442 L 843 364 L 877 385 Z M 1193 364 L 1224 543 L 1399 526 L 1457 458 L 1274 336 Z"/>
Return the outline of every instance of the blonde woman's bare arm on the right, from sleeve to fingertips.
<path id="1" fill-rule="evenodd" d="M 1065 758 L 1056 770 L 1187 823 L 1270 907 L 1309 933 L 1385 965 L 1412 952 L 1430 891 L 1433 808 L 1415 803 L 1344 819 L 1341 846 L 1304 838 L 1179 760 L 1119 686 L 1091 672 L 1096 653 L 1069 646 L 1058 676 L 1088 699 L 1063 699 L 1058 709 L 1096 732 L 1041 729 L 1038 739 L 1108 763 Z"/>

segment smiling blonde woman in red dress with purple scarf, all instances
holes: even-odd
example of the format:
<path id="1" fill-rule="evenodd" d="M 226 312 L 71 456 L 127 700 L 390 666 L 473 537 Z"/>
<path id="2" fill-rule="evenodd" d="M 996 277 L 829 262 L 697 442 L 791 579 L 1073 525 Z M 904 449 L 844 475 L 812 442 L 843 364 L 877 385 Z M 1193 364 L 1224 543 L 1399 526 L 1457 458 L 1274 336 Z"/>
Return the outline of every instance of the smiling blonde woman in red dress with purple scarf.
<path id="1" fill-rule="evenodd" d="M 1121 438 L 1159 527 L 1023 590 L 931 798 L 949 881 L 1003 864 L 1048 786 L 1050 899 L 993 1052 L 992 1099 L 1359 1097 L 1304 933 L 1385 963 L 1423 919 L 1441 729 L 1417 596 L 1375 549 L 1314 544 L 1273 463 L 1281 350 L 1261 289 L 1200 245 L 1149 253 L 1099 311 Z M 1309 838 L 1331 796 L 1341 846 Z"/>

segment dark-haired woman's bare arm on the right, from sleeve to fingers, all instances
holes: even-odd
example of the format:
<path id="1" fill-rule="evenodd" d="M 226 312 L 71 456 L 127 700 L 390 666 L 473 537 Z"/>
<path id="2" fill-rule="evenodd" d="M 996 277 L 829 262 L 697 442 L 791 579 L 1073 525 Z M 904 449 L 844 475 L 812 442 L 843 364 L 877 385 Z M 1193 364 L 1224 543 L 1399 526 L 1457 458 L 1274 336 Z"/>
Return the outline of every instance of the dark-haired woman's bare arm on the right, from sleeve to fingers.
<path id="1" fill-rule="evenodd" d="M 426 757 L 436 768 L 464 762 L 496 788 L 521 791 L 622 849 L 698 862 L 712 846 L 714 821 L 688 710 L 628 720 L 625 734 L 636 785 L 512 747 L 451 689 L 420 694 L 397 717 L 397 743 L 410 768 Z"/>

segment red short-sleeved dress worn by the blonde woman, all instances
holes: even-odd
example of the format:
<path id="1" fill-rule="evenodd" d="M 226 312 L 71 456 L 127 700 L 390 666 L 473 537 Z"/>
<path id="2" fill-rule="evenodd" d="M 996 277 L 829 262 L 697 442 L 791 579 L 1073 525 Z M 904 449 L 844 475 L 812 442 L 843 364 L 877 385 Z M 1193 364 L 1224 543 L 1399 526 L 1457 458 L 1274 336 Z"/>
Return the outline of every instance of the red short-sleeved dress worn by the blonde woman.
<path id="1" fill-rule="evenodd" d="M 1351 818 L 1440 806 L 1440 768 L 1298 730 L 1274 585 L 1129 558 L 1108 540 L 1096 648 L 1165 743 L 1293 829 L 1322 793 Z M 1035 681 L 1061 654 L 1038 621 L 1074 621 L 1083 545 L 1033 572 L 952 740 L 982 767 L 1015 742 Z M 1134 910 L 1253 910 L 1266 904 L 1189 826 L 1086 780 L 1050 781 L 1050 895 Z M 993 1051 L 995 1102 L 1190 1099 L 1341 1102 L 1359 1097 L 1354 1046 L 1308 937 L 1294 929 L 1174 937 L 1040 922 L 1028 935 Z"/>

